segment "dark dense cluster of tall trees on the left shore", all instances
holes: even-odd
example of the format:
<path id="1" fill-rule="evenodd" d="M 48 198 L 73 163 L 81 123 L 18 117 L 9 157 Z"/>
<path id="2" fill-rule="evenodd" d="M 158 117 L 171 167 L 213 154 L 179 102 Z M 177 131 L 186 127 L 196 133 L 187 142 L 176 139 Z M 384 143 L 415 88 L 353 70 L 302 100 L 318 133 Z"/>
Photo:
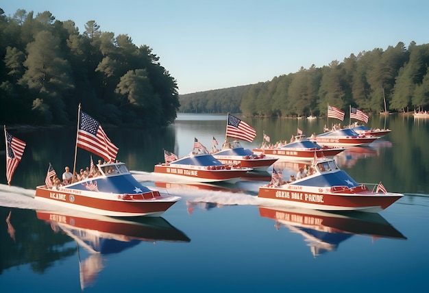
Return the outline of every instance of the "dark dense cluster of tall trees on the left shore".
<path id="1" fill-rule="evenodd" d="M 166 126 L 180 106 L 177 82 L 152 49 L 95 21 L 80 34 L 49 11 L 0 8 L 0 59 L 3 124 L 67 125 L 82 103 L 101 123 Z"/>

